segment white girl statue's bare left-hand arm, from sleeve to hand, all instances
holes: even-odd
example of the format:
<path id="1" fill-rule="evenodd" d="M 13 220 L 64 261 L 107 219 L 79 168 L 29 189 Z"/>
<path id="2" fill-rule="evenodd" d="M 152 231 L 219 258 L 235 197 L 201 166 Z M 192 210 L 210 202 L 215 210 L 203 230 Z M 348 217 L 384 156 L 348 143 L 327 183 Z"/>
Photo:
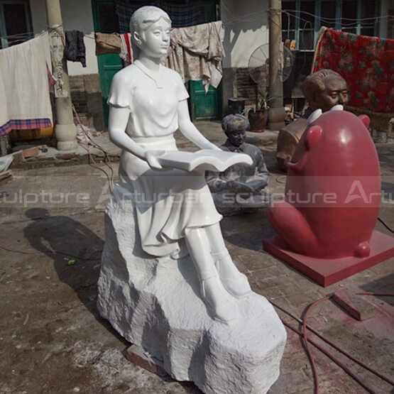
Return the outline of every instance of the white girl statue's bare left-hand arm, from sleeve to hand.
<path id="1" fill-rule="evenodd" d="M 130 111 L 127 108 L 109 107 L 108 132 L 111 142 L 124 151 L 132 153 L 142 160 L 146 160 L 151 168 L 162 168 L 158 163 L 157 157 L 163 154 L 163 151 L 145 151 L 126 134 L 129 115 Z"/>

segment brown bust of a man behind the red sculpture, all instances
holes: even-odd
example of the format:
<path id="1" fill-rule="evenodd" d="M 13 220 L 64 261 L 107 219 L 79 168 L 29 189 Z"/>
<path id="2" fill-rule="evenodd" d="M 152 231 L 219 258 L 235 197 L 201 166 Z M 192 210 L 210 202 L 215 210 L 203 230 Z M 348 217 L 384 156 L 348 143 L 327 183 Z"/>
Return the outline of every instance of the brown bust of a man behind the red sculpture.
<path id="1" fill-rule="evenodd" d="M 302 85 L 302 92 L 309 104 L 305 119 L 297 119 L 283 127 L 278 136 L 276 158 L 283 171 L 287 171 L 285 160 L 292 158 L 295 146 L 307 128 L 306 118 L 316 109 L 326 112 L 336 104 L 347 104 L 349 100 L 346 81 L 333 70 L 324 69 L 308 75 Z"/>

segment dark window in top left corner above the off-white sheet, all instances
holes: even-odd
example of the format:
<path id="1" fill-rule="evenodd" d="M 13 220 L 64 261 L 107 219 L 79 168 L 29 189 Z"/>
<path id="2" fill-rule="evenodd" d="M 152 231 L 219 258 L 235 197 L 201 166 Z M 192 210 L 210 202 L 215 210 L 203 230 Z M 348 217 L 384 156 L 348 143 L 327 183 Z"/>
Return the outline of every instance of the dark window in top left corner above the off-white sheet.
<path id="1" fill-rule="evenodd" d="M 28 0 L 0 0 L 0 49 L 33 37 Z"/>

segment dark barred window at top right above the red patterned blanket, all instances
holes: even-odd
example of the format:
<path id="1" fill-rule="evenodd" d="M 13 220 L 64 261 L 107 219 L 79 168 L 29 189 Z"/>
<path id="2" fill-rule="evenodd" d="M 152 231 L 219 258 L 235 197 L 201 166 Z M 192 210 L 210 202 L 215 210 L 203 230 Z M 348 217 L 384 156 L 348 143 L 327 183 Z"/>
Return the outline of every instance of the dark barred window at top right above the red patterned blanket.
<path id="1" fill-rule="evenodd" d="M 377 35 L 378 0 L 282 1 L 282 37 L 298 50 L 313 50 L 321 26 L 362 35 Z M 368 19 L 366 19 L 368 18 Z"/>

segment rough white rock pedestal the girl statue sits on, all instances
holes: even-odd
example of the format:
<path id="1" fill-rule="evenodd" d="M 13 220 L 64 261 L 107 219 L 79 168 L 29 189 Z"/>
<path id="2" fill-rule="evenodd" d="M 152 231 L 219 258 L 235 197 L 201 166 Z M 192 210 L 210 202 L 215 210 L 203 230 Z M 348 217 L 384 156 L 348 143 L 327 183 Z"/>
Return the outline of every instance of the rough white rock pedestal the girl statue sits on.
<path id="1" fill-rule="evenodd" d="M 266 393 L 279 376 L 286 340 L 272 305 L 252 293 L 234 299 L 237 322 L 214 321 L 189 256 L 153 258 L 143 252 L 133 204 L 123 192 L 116 185 L 117 198 L 106 208 L 97 301 L 102 317 L 163 361 L 177 381 L 193 381 L 207 394 Z"/>

